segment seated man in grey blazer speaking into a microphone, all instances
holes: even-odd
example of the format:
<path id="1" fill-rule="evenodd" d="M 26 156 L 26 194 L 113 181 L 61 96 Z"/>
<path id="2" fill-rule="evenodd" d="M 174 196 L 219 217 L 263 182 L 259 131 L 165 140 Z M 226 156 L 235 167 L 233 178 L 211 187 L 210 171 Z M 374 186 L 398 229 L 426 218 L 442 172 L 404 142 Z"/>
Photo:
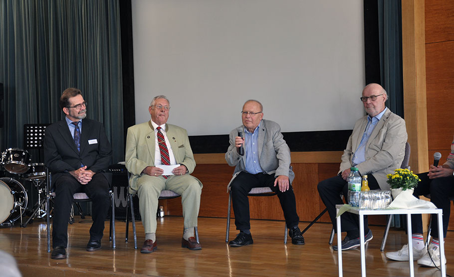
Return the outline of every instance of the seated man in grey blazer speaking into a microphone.
<path id="1" fill-rule="evenodd" d="M 229 187 L 235 225 L 240 231 L 228 245 L 239 247 L 253 243 L 247 193 L 254 187 L 269 187 L 277 193 L 292 244 L 303 245 L 304 238 L 298 228 L 299 217 L 291 185 L 295 174 L 290 169 L 290 149 L 282 137 L 280 126 L 263 119 L 263 106 L 256 100 L 244 103 L 241 119 L 243 125 L 230 132 L 230 145 L 226 153 L 228 165 L 235 166 Z M 239 128 L 244 131 L 244 139 L 237 136 Z M 244 147 L 243 155 L 237 151 L 240 146 Z"/>

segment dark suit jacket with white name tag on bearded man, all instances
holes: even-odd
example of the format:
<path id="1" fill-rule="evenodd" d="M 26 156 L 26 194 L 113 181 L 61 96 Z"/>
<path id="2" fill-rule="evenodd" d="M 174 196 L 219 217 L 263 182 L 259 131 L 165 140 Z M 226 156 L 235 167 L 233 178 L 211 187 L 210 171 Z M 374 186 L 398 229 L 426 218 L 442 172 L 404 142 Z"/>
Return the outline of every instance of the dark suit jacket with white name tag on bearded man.
<path id="1" fill-rule="evenodd" d="M 90 142 L 89 142 L 90 141 Z M 80 168 L 80 164 L 96 173 L 104 172 L 112 159 L 112 146 L 101 123 L 82 120 L 80 152 L 65 120 L 49 125 L 44 136 L 44 160 L 52 173 L 52 183 L 65 172 Z M 106 179 L 110 178 L 106 176 Z"/>

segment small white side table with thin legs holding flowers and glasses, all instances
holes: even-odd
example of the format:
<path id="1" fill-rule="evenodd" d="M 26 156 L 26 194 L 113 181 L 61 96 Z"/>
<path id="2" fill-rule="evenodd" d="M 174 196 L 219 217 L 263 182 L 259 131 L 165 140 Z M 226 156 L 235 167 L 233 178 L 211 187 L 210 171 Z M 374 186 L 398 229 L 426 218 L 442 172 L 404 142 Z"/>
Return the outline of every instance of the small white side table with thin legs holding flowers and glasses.
<path id="1" fill-rule="evenodd" d="M 336 214 L 339 213 L 339 209 L 343 205 L 336 205 Z M 443 238 L 443 220 L 442 220 L 442 209 L 385 209 L 385 210 L 366 210 L 359 209 L 357 207 L 350 207 L 347 211 L 350 213 L 357 214 L 359 216 L 359 232 L 360 232 L 360 243 L 361 243 L 361 276 L 366 276 L 366 255 L 364 246 L 364 216 L 365 215 L 395 215 L 395 214 L 406 214 L 407 215 L 407 233 L 408 233 L 408 250 L 410 257 L 410 276 L 415 276 L 415 269 L 413 268 L 413 245 L 412 245 L 412 214 L 437 214 L 438 218 L 438 232 L 440 239 L 440 260 L 442 277 L 446 277 L 446 265 L 445 261 L 445 243 Z M 342 243 L 341 243 L 341 220 L 340 216 L 337 217 L 337 246 L 338 246 L 338 259 L 339 259 L 339 277 L 342 277 Z"/>

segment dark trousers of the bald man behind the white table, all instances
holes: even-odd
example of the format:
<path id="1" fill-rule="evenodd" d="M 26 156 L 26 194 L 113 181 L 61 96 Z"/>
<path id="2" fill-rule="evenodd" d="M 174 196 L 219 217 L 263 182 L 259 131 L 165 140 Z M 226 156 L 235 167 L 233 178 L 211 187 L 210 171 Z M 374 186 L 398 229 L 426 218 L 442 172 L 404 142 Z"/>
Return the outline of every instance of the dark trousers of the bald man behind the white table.
<path id="1" fill-rule="evenodd" d="M 372 174 L 367 175 L 370 189 L 379 189 L 380 186 L 377 180 Z M 328 214 L 333 223 L 334 231 L 337 232 L 336 227 L 336 205 L 344 204 L 341 198 L 341 193 L 344 195 L 344 199 L 348 203 L 348 184 L 347 181 L 342 179 L 342 176 L 337 175 L 335 177 L 326 179 L 318 183 L 317 186 L 320 198 L 328 208 Z M 343 213 L 341 215 L 341 231 L 359 230 L 359 217 L 352 213 Z M 367 225 L 367 216 L 364 217 L 364 233 L 369 231 Z"/>

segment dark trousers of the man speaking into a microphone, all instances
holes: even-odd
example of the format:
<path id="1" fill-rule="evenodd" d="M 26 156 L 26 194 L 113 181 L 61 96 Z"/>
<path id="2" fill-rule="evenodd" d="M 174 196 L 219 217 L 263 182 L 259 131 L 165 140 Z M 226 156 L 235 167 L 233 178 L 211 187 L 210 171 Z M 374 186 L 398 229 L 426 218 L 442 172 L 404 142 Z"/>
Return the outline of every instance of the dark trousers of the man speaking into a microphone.
<path id="1" fill-rule="evenodd" d="M 288 228 L 298 226 L 299 217 L 296 213 L 296 200 L 293 187 L 281 192 L 279 186 L 274 186 L 274 175 L 265 173 L 250 174 L 240 172 L 231 182 L 231 201 L 235 213 L 236 230 L 250 229 L 249 199 L 247 193 L 254 187 L 269 187 L 277 193 L 280 206 L 284 212 L 285 223 Z"/>

